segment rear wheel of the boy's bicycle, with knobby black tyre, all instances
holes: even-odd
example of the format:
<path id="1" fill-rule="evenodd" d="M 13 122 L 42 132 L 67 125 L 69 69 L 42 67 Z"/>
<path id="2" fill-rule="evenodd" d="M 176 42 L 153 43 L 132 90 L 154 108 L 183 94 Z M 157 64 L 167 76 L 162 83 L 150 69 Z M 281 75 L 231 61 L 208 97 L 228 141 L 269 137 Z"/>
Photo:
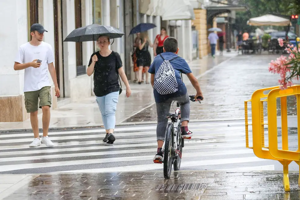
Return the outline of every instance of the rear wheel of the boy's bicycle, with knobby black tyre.
<path id="1" fill-rule="evenodd" d="M 163 152 L 163 176 L 165 179 L 170 178 L 172 171 L 173 156 L 173 135 L 174 128 L 172 123 L 168 123 L 165 139 L 165 148 Z"/>

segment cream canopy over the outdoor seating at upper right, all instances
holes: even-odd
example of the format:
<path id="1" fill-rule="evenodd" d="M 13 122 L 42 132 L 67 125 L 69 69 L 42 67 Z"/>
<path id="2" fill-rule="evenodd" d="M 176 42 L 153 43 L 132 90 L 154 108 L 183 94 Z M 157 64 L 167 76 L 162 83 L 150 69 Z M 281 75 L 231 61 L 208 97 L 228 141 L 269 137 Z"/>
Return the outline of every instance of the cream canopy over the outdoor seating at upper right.
<path id="1" fill-rule="evenodd" d="M 290 24 L 290 20 L 283 17 L 267 14 L 260 17 L 251 18 L 249 19 L 247 24 L 250 26 L 287 26 Z"/>

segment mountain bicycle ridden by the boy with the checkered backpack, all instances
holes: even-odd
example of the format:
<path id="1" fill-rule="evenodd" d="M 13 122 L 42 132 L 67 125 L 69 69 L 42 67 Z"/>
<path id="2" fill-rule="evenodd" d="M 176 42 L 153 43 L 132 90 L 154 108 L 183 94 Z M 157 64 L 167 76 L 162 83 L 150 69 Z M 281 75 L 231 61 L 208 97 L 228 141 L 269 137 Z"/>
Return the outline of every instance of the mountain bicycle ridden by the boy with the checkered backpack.
<path id="1" fill-rule="evenodd" d="M 189 95 L 191 101 L 196 101 L 195 95 Z M 202 96 L 197 97 L 197 101 L 201 104 Z M 175 102 L 175 101 L 174 101 Z M 173 104 L 174 104 L 173 102 Z M 170 178 L 172 165 L 174 170 L 180 169 L 182 148 L 184 147 L 184 138 L 181 137 L 181 117 L 180 117 L 180 104 L 176 101 L 176 110 L 174 113 L 169 113 L 167 118 L 171 122 L 167 124 L 166 138 L 163 143 L 163 176 L 165 179 Z M 190 139 L 190 138 L 187 138 Z M 165 150 L 167 149 L 167 150 Z"/>

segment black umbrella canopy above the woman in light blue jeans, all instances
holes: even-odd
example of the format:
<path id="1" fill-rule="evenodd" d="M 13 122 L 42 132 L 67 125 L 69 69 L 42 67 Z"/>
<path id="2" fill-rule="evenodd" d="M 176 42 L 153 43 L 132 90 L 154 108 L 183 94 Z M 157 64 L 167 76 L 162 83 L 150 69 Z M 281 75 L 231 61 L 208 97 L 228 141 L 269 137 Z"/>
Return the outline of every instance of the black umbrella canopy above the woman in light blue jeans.
<path id="1" fill-rule="evenodd" d="M 110 39 L 120 38 L 125 33 L 120 32 L 117 28 L 112 26 L 104 26 L 98 24 L 91 24 L 73 30 L 64 42 L 87 42 L 97 41 L 99 36 L 109 36 Z"/>

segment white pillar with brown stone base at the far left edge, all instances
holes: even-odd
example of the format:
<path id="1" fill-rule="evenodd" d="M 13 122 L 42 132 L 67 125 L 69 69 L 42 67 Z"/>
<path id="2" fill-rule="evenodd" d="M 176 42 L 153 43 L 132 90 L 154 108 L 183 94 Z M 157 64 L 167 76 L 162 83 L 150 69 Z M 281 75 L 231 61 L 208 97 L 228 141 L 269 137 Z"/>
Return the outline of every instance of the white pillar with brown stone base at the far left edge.
<path id="1" fill-rule="evenodd" d="M 0 1 L 0 122 L 27 119 L 24 106 L 24 70 L 13 69 L 18 48 L 28 42 L 27 1 Z M 7 31 L 9 30 L 9 34 Z"/>

